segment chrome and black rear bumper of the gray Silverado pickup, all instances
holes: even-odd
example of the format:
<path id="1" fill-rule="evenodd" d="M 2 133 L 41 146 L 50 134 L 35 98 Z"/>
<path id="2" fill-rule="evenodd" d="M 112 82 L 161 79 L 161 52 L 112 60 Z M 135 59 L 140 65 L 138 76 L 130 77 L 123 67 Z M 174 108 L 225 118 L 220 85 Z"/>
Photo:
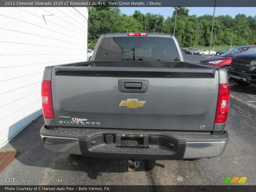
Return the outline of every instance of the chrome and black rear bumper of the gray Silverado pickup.
<path id="1" fill-rule="evenodd" d="M 116 130 L 95 128 L 58 128 L 40 130 L 44 147 L 87 157 L 122 159 L 182 160 L 220 156 L 228 143 L 228 133 Z M 108 136 L 108 141 L 106 140 Z M 148 146 L 118 147 L 117 135 L 146 137 Z M 113 138 L 109 142 L 109 138 Z M 108 143 L 108 144 L 107 144 Z"/>

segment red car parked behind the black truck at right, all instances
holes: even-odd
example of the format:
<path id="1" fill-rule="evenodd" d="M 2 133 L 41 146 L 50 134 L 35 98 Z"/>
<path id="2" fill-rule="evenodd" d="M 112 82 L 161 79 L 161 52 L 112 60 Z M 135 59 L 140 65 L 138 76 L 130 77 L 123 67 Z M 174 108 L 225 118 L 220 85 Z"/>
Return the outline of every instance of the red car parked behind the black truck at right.
<path id="1" fill-rule="evenodd" d="M 231 64 L 232 56 L 237 53 L 244 52 L 256 52 L 256 45 L 244 45 L 236 47 L 229 50 L 228 52 L 221 54 L 219 57 L 211 57 L 201 60 L 200 64 L 228 69 L 229 65 Z"/>

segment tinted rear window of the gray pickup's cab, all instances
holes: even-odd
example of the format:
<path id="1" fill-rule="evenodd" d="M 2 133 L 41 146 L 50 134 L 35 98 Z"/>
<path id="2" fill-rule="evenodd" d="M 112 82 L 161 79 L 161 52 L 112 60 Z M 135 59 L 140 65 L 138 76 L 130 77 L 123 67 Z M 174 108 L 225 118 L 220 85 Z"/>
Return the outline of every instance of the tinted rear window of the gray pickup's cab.
<path id="1" fill-rule="evenodd" d="M 95 60 L 179 61 L 172 38 L 127 36 L 101 40 Z"/>

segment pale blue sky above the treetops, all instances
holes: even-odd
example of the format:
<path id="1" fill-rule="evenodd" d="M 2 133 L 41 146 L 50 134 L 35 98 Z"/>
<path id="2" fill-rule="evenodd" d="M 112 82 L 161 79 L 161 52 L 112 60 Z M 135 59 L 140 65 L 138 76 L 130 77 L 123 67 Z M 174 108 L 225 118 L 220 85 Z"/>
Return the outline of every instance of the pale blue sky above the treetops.
<path id="1" fill-rule="evenodd" d="M 201 16 L 205 14 L 213 14 L 213 7 L 187 7 L 189 9 L 189 15 Z M 142 13 L 154 13 L 164 15 L 166 19 L 168 16 L 172 15 L 172 7 L 120 7 L 121 12 L 127 15 L 132 15 L 135 10 L 139 10 Z M 215 16 L 218 15 L 230 15 L 235 17 L 238 13 L 244 13 L 246 16 L 255 16 L 255 7 L 216 7 Z"/>

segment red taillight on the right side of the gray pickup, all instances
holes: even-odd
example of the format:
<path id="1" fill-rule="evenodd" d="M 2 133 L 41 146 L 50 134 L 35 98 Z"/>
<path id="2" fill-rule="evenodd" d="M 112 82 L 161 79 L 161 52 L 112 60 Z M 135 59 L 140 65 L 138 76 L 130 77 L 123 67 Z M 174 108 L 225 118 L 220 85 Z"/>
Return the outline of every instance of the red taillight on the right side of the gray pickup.
<path id="1" fill-rule="evenodd" d="M 214 123 L 225 123 L 227 121 L 229 100 L 230 100 L 229 84 L 220 84 L 217 110 L 216 110 Z"/>

